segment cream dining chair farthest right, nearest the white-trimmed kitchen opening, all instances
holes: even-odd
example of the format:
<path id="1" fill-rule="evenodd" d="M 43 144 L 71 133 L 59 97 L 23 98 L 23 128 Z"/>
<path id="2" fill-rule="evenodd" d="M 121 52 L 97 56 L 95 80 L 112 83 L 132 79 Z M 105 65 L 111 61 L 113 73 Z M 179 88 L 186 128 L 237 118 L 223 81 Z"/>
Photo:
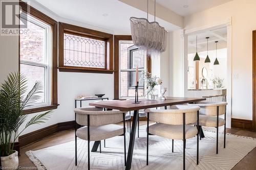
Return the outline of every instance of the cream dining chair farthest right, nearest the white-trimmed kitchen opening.
<path id="1" fill-rule="evenodd" d="M 219 127 L 224 126 L 224 148 L 226 148 L 226 102 L 198 102 L 188 104 L 199 106 L 199 126 L 215 127 L 216 134 L 216 154 L 218 154 Z M 219 117 L 224 114 L 224 119 Z M 202 129 L 202 128 L 200 128 Z"/>

